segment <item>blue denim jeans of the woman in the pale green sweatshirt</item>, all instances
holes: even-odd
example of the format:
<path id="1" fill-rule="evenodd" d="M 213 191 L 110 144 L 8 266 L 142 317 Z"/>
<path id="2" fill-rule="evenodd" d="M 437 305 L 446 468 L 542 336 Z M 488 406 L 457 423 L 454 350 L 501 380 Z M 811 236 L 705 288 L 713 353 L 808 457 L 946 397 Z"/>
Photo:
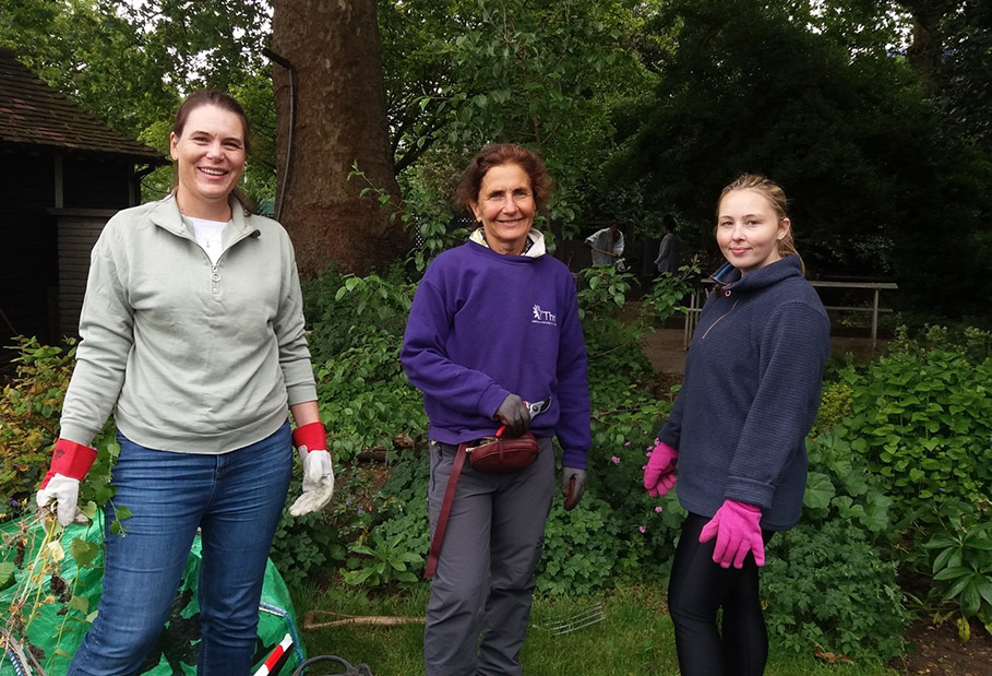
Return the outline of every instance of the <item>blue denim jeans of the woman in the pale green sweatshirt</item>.
<path id="1" fill-rule="evenodd" d="M 132 517 L 113 535 L 105 508 L 99 613 L 69 676 L 138 674 L 162 632 L 196 529 L 201 529 L 196 673 L 251 671 L 259 601 L 292 469 L 289 424 L 223 455 L 157 451 L 118 434 L 112 502 Z"/>

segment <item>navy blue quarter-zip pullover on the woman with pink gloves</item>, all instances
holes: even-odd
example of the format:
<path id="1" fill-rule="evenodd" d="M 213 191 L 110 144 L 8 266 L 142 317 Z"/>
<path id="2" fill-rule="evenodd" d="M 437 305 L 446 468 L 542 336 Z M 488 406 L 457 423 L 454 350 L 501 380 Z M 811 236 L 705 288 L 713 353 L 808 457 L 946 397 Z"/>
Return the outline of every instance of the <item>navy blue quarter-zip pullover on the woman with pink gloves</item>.
<path id="1" fill-rule="evenodd" d="M 712 517 L 739 500 L 762 508 L 763 529 L 782 531 L 802 509 L 829 320 L 798 256 L 743 276 L 725 265 L 714 280 L 659 437 L 679 450 L 685 509 Z"/>

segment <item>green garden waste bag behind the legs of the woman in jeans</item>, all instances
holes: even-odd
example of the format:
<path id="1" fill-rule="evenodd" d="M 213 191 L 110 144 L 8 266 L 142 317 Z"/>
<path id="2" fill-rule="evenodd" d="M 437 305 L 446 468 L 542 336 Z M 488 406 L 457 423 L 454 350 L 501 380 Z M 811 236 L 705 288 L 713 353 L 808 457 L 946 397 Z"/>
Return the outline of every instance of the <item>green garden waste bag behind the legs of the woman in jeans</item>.
<path id="1" fill-rule="evenodd" d="M 40 674 L 32 656 L 48 676 L 62 676 L 69 669 L 69 662 L 96 615 L 103 590 L 100 522 L 98 517 L 88 525 L 71 525 L 60 542 L 51 544 L 46 543 L 45 526 L 37 514 L 0 524 L 0 676 Z M 200 561 L 198 535 L 166 626 L 142 674 L 196 673 Z M 280 643 L 288 647 L 287 657 L 280 671 L 271 673 L 288 675 L 306 655 L 289 592 L 270 560 L 259 607 L 252 674 Z"/>

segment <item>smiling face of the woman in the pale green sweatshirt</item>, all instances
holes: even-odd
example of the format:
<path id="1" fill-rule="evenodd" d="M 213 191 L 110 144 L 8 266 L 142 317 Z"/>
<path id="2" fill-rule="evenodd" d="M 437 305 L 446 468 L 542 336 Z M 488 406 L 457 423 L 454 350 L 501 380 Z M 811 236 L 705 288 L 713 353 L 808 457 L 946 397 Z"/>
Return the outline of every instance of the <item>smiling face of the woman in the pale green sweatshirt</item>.
<path id="1" fill-rule="evenodd" d="M 188 216 L 227 221 L 228 197 L 244 170 L 244 124 L 214 105 L 193 108 L 181 135 L 169 137 L 177 164 L 176 201 Z"/>

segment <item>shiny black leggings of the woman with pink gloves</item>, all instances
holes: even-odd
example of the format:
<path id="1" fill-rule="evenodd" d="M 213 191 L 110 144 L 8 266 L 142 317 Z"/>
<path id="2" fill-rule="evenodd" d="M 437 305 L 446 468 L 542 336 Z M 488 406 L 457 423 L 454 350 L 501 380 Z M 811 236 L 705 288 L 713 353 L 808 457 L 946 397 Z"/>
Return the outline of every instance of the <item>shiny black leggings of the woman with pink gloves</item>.
<path id="1" fill-rule="evenodd" d="M 713 562 L 716 539 L 700 544 L 707 517 L 690 513 L 682 524 L 668 585 L 668 610 L 676 626 L 682 676 L 761 676 L 768 657 L 757 566 L 749 554 L 744 567 Z M 762 533 L 765 543 L 772 536 Z M 717 610 L 724 609 L 717 631 Z"/>

